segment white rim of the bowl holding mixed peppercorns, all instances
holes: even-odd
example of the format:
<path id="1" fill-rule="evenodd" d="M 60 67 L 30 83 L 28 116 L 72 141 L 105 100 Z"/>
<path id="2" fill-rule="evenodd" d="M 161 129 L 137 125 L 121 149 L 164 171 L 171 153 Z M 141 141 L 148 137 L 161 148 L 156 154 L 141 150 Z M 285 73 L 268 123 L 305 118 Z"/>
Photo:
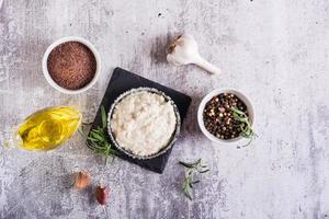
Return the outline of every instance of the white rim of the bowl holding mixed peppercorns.
<path id="1" fill-rule="evenodd" d="M 214 97 L 214 96 L 216 96 L 220 93 L 232 93 L 236 96 L 238 96 L 247 106 L 247 111 L 248 111 L 248 114 L 249 114 L 251 125 L 254 124 L 253 106 L 251 105 L 251 102 L 249 101 L 249 99 L 245 94 L 242 94 L 241 92 L 239 92 L 237 90 L 232 90 L 232 89 L 216 89 L 216 90 L 213 90 L 211 93 L 208 93 L 206 96 L 204 96 L 203 100 L 201 101 L 200 105 L 198 105 L 198 110 L 197 110 L 198 127 L 201 128 L 202 132 L 209 140 L 212 140 L 216 143 L 237 143 L 238 141 L 243 139 L 241 136 L 239 136 L 237 138 L 232 138 L 232 139 L 227 139 L 227 140 L 219 139 L 219 138 L 216 138 L 213 134 L 211 134 L 204 126 L 203 111 L 205 108 L 205 105 L 207 104 L 208 101 L 212 100 L 212 97 Z"/>

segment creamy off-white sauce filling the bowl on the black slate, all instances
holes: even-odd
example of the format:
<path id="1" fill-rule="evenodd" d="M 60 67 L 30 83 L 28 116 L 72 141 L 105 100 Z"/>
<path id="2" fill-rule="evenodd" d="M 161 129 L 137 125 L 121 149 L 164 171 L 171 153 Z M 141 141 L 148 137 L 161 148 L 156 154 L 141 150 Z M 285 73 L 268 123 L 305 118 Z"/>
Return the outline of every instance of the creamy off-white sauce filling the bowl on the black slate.
<path id="1" fill-rule="evenodd" d="M 175 129 L 173 106 L 148 91 L 134 92 L 114 107 L 111 129 L 117 143 L 136 155 L 147 157 L 164 148 Z"/>

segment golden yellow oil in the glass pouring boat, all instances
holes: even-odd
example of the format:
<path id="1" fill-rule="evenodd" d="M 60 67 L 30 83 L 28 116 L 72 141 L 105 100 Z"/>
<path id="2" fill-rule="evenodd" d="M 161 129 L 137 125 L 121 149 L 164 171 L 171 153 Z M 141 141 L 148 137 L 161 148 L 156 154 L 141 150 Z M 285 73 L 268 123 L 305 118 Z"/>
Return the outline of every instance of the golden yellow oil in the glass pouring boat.
<path id="1" fill-rule="evenodd" d="M 19 127 L 20 147 L 26 150 L 52 150 L 69 139 L 79 128 L 82 115 L 67 107 L 48 107 L 29 116 Z"/>

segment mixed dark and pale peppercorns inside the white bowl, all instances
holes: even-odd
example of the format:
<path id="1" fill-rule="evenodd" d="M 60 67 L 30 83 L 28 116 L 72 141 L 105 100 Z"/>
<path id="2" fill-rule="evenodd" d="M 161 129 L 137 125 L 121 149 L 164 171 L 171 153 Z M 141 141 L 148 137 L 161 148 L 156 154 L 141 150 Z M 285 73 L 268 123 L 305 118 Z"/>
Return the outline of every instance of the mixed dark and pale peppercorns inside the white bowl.
<path id="1" fill-rule="evenodd" d="M 205 128 L 219 139 L 237 138 L 242 130 L 240 122 L 234 118 L 235 108 L 248 116 L 246 104 L 235 94 L 220 93 L 214 96 L 203 112 Z"/>

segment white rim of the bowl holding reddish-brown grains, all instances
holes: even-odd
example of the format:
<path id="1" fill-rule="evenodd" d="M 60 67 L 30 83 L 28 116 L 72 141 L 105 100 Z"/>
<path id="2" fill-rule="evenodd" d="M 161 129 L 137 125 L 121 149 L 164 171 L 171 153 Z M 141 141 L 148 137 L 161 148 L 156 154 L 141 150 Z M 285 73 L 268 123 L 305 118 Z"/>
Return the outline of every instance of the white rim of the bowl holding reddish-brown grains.
<path id="1" fill-rule="evenodd" d="M 95 73 L 94 73 L 94 77 L 93 79 L 83 88 L 81 89 L 77 89 L 77 90 L 69 90 L 69 89 L 65 89 L 60 85 L 58 85 L 52 78 L 52 76 L 49 74 L 48 72 L 48 66 L 47 66 L 47 61 L 48 61 L 48 56 L 49 54 L 52 53 L 52 50 L 58 46 L 59 44 L 63 44 L 63 43 L 67 43 L 67 42 L 78 42 L 78 43 L 81 43 L 83 44 L 84 46 L 87 46 L 91 53 L 93 54 L 94 58 L 95 58 L 95 62 L 97 62 L 97 70 L 95 70 Z M 67 37 L 64 37 L 64 38 L 59 38 L 57 41 L 55 41 L 53 44 L 50 44 L 50 46 L 47 48 L 44 57 L 43 57 L 43 64 L 42 64 L 42 67 L 43 67 L 43 73 L 44 73 L 44 77 L 46 78 L 47 82 L 54 88 L 56 89 L 57 91 L 60 91 L 63 93 L 66 93 L 66 94 L 78 94 L 78 93 L 82 93 L 84 91 L 87 91 L 88 89 L 90 89 L 98 80 L 100 73 L 101 73 L 101 58 L 100 58 L 100 54 L 98 53 L 98 50 L 95 49 L 95 47 L 87 39 L 84 38 L 81 38 L 81 37 L 77 37 L 77 36 L 67 36 Z"/>

